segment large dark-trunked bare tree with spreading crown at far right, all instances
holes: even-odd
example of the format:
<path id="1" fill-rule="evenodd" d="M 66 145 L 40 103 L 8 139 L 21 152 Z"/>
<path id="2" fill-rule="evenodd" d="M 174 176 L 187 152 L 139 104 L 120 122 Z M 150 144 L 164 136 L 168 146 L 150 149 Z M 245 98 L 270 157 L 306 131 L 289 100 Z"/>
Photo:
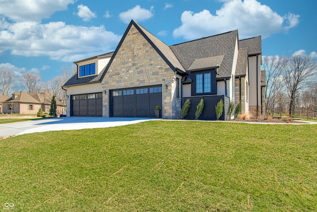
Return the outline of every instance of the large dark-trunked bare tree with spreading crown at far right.
<path id="1" fill-rule="evenodd" d="M 284 65 L 284 81 L 290 98 L 289 117 L 294 117 L 296 93 L 310 85 L 317 71 L 317 62 L 308 55 L 294 55 Z"/>

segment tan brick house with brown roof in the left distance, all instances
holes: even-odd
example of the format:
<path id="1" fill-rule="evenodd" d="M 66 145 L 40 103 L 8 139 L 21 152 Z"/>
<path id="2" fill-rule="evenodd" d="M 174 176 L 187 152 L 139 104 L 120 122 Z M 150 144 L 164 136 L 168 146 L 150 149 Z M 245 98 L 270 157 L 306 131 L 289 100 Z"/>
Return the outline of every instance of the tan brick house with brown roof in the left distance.
<path id="1" fill-rule="evenodd" d="M 3 102 L 3 113 L 37 114 L 40 107 L 49 113 L 52 97 L 46 92 L 26 93 L 14 92 L 12 97 Z M 56 99 L 58 114 L 65 114 L 65 104 Z"/>

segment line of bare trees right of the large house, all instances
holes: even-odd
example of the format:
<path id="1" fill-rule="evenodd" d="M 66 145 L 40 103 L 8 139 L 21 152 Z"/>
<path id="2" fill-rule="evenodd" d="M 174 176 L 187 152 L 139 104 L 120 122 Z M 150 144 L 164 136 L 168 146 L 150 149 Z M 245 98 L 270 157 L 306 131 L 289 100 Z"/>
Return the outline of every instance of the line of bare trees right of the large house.
<path id="1" fill-rule="evenodd" d="M 263 56 L 266 117 L 317 116 L 317 62 L 308 55 Z"/>

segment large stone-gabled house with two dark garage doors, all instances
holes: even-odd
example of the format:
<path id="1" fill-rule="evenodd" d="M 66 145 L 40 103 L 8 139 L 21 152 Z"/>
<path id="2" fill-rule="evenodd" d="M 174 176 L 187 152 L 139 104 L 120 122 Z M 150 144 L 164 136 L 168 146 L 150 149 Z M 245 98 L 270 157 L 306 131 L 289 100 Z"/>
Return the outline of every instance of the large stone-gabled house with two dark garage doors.
<path id="1" fill-rule="evenodd" d="M 155 117 L 160 106 L 172 119 L 186 99 L 187 119 L 201 99 L 200 119 L 216 119 L 220 99 L 222 120 L 231 100 L 260 114 L 261 51 L 261 36 L 239 41 L 238 30 L 167 46 L 132 20 L 114 52 L 74 62 L 77 74 L 63 85 L 66 115 Z"/>

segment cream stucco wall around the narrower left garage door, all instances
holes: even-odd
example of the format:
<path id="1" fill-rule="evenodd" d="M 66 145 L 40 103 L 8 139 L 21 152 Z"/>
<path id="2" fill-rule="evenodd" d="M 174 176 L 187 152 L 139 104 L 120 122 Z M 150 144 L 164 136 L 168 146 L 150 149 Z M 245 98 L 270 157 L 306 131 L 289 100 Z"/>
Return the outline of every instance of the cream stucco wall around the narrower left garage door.
<path id="1" fill-rule="evenodd" d="M 67 90 L 66 95 L 68 95 L 68 99 L 66 100 L 66 116 L 70 116 L 71 95 L 103 92 L 101 83 L 64 87 L 64 89 Z"/>

